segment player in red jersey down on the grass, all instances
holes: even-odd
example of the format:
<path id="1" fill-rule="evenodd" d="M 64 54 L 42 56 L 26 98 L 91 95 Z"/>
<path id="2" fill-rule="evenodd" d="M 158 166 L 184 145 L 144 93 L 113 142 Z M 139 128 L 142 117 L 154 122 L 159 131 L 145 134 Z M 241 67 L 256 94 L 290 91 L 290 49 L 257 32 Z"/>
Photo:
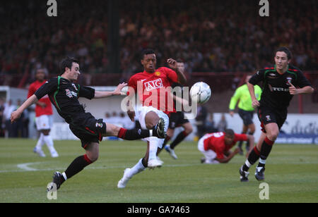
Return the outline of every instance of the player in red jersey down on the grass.
<path id="1" fill-rule="evenodd" d="M 254 136 L 246 134 L 236 134 L 233 130 L 227 129 L 225 132 L 208 133 L 198 142 L 198 149 L 204 154 L 201 163 L 228 163 L 233 156 L 240 152 L 237 147 L 230 151 L 237 141 L 249 141 L 254 144 Z"/>

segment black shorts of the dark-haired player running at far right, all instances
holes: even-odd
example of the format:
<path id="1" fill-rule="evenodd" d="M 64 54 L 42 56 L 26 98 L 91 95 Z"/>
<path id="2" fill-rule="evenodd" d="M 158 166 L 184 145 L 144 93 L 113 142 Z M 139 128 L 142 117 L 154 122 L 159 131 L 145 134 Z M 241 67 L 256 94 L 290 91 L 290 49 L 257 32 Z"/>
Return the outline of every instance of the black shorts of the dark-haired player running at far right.
<path id="1" fill-rule="evenodd" d="M 257 116 L 259 117 L 259 121 L 261 121 L 261 131 L 266 132 L 265 125 L 268 123 L 276 123 L 278 129 L 281 130 L 287 118 L 287 109 L 277 110 L 261 106 L 257 111 Z"/>

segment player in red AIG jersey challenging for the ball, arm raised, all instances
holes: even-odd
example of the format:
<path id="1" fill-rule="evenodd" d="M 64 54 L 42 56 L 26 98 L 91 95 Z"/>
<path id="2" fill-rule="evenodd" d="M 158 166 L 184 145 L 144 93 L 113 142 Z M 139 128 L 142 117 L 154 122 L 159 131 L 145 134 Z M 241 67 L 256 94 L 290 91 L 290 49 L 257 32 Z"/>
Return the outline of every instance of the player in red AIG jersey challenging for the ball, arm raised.
<path id="1" fill-rule="evenodd" d="M 142 107 L 139 109 L 139 123 L 141 128 L 150 129 L 157 125 L 159 120 L 165 121 L 165 132 L 169 125 L 169 114 L 175 112 L 173 97 L 171 94 L 171 85 L 179 82 L 184 85 L 187 78 L 177 66 L 177 61 L 172 58 L 167 59 L 170 68 L 156 68 L 157 58 L 155 51 L 145 49 L 141 54 L 141 64 L 143 72 L 133 75 L 129 82 L 129 92 L 138 94 Z M 127 111 L 129 118 L 134 121 L 135 111 Z M 119 180 L 117 187 L 124 188 L 126 183 L 137 173 L 148 168 L 160 167 L 163 161 L 157 158 L 158 150 L 163 148 L 164 139 L 148 137 L 144 139 L 147 142 L 147 151 L 143 159 L 132 168 L 126 168 L 124 176 Z"/>

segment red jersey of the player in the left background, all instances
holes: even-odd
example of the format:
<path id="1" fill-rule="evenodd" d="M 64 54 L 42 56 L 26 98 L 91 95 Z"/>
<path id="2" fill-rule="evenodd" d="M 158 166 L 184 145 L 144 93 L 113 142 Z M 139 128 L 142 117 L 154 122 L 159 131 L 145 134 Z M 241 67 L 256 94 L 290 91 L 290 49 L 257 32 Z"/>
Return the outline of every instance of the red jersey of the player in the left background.
<path id="1" fill-rule="evenodd" d="M 29 87 L 28 98 L 31 97 L 37 91 L 37 89 L 39 89 L 42 85 L 44 85 L 45 82 L 46 80 L 43 82 L 39 82 L 39 81 L 33 82 Z M 44 102 L 47 106 L 45 106 L 45 108 L 42 108 L 41 106 L 36 105 L 35 117 L 39 117 L 42 115 L 47 115 L 47 116 L 52 115 L 53 111 L 52 111 L 51 101 L 49 101 L 49 96 L 45 95 L 39 101 Z"/>

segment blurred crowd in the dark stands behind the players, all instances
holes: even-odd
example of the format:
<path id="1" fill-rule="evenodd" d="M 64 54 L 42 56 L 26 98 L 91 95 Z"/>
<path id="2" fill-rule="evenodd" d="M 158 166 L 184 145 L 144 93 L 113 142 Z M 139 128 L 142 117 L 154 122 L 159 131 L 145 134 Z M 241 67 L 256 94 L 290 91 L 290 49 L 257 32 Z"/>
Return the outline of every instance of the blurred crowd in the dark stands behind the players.
<path id="1" fill-rule="evenodd" d="M 5 1 L 0 8 L 0 85 L 13 75 L 44 67 L 59 74 L 59 61 L 74 56 L 85 74 L 108 70 L 107 1 L 57 1 L 57 17 L 46 1 Z M 119 1 L 120 71 L 125 79 L 142 70 L 140 52 L 157 51 L 158 66 L 179 58 L 192 72 L 252 72 L 269 66 L 273 51 L 288 46 L 293 63 L 317 70 L 317 1 L 270 1 L 269 17 L 259 1 Z M 88 82 L 89 85 L 89 82 Z"/>

